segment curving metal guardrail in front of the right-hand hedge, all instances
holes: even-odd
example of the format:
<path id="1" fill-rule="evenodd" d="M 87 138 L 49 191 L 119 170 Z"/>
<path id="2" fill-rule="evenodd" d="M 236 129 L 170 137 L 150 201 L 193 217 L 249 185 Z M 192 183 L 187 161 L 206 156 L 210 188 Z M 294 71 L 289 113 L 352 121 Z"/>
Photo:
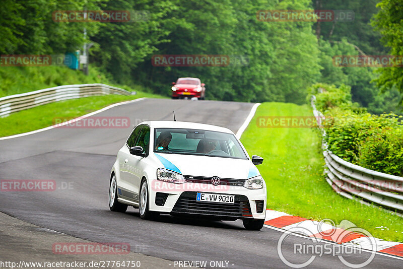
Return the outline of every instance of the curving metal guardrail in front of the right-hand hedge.
<path id="1" fill-rule="evenodd" d="M 315 100 L 315 96 L 312 96 L 311 106 L 324 137 L 324 116 L 316 109 Z M 403 177 L 349 163 L 329 151 L 323 139 L 322 149 L 326 163 L 326 181 L 335 192 L 349 199 L 359 200 L 365 205 L 380 205 L 385 210 L 403 217 Z"/>

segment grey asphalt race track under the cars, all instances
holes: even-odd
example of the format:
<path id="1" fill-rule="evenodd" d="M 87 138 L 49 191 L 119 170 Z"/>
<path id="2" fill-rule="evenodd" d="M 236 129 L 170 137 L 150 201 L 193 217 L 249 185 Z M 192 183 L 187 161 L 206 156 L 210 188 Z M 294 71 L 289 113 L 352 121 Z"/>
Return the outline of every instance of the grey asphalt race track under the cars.
<path id="1" fill-rule="evenodd" d="M 236 132 L 253 104 L 219 101 L 146 99 L 103 111 L 96 116 L 127 116 L 134 126 L 142 120 L 177 120 L 225 126 Z M 57 116 L 57 115 L 55 115 Z M 131 250 L 168 260 L 229 261 L 229 268 L 289 267 L 279 257 L 281 231 L 246 231 L 242 222 L 188 220 L 162 215 L 145 221 L 139 211 L 110 212 L 109 172 L 131 128 L 54 128 L 0 141 L 0 179 L 55 180 L 49 192 L 1 192 L 0 211 L 20 220 L 94 242 L 125 242 Z M 249 152 L 249 154 L 253 154 Z M 264 157 L 264 156 L 262 156 Z M 268 179 L 270 189 L 270 179 Z M 7 239 L 6 239 L 7 240 Z M 282 247 L 292 262 L 308 260 L 295 254 L 294 243 L 310 239 L 291 236 Z M 345 254 L 364 262 L 369 253 Z M 375 255 L 370 268 L 401 268 L 403 261 Z M 174 267 L 172 265 L 172 267 Z M 316 256 L 311 268 L 344 268 L 338 256 Z"/>

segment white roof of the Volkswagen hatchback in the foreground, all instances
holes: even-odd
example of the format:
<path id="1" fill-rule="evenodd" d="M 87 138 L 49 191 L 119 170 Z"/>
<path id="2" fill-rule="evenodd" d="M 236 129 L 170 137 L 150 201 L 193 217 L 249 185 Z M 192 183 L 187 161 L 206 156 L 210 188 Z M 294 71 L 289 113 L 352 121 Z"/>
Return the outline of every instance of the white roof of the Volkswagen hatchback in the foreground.
<path id="1" fill-rule="evenodd" d="M 187 121 L 150 120 L 150 121 L 143 121 L 140 124 L 148 124 L 152 128 L 187 128 L 187 129 L 201 129 L 201 130 L 233 133 L 230 129 L 225 128 L 225 127 L 204 124 L 204 123 L 187 122 Z"/>

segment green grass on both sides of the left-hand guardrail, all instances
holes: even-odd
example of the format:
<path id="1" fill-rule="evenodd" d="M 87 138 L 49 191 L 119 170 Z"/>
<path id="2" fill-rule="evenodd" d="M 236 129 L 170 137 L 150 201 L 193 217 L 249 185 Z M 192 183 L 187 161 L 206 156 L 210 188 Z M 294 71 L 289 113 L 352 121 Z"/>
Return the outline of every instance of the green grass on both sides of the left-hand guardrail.
<path id="1" fill-rule="evenodd" d="M 137 99 L 141 97 L 162 98 L 150 89 L 140 85 L 132 87 L 116 85 L 110 78 L 94 66 L 90 66 L 90 74 L 71 70 L 65 66 L 3 66 L 0 68 L 0 97 L 25 93 L 60 85 L 103 83 L 136 91 L 137 95 L 106 95 L 60 101 L 13 113 L 0 118 L 0 137 L 37 130 L 53 125 L 53 118 L 75 118 L 101 109 L 107 105 Z"/>

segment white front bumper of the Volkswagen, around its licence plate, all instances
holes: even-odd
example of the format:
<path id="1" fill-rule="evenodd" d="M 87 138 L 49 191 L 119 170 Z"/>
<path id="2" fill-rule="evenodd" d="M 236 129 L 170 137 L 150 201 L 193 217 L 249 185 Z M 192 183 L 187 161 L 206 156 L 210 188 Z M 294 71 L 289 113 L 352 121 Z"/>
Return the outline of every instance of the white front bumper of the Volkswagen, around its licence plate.
<path id="1" fill-rule="evenodd" d="M 150 210 L 172 215 L 209 216 L 217 219 L 264 219 L 266 212 L 266 188 L 247 189 L 243 186 L 211 184 L 166 183 L 153 180 L 150 190 Z M 217 186 L 219 187 L 219 186 Z M 235 195 L 234 204 L 196 201 L 197 192 Z"/>

